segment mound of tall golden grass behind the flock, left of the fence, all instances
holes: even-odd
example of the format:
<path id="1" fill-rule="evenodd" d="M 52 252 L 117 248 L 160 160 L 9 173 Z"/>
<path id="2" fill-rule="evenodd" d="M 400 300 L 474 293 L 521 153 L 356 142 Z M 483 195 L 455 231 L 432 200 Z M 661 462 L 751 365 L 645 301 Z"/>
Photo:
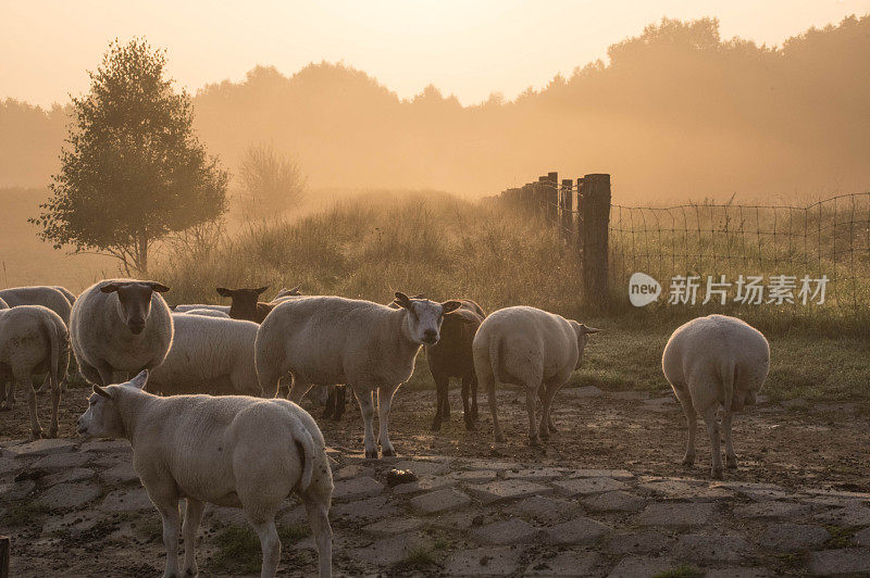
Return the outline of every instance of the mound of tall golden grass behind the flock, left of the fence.
<path id="1" fill-rule="evenodd" d="M 444 193 L 362 196 L 294 223 L 252 224 L 209 254 L 176 254 L 157 278 L 174 302 L 217 302 L 219 286 L 301 285 L 387 302 L 397 290 L 469 297 L 484 309 L 580 306 L 576 254 L 556 233 Z"/>

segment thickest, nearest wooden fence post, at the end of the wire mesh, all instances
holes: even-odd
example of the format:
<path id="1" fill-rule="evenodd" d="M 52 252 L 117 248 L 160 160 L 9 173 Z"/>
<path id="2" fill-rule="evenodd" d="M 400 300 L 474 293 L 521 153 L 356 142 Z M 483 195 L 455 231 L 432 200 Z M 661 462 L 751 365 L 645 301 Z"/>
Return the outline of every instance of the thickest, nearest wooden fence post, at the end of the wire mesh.
<path id="1" fill-rule="evenodd" d="M 581 210 L 584 299 L 601 303 L 608 298 L 610 175 L 583 177 Z"/>

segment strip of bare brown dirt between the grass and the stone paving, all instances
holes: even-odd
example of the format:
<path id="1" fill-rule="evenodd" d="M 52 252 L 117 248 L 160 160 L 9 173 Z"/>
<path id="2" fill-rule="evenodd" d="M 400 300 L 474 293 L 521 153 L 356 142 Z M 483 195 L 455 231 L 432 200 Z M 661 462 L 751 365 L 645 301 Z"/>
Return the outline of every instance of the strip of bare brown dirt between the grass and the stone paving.
<path id="1" fill-rule="evenodd" d="M 75 423 L 87 406 L 87 389 L 74 388 L 61 401 L 60 437 L 75 438 Z M 585 393 L 585 394 L 577 394 Z M 542 448 L 527 444 L 525 397 L 502 388 L 499 419 L 507 441 L 493 441 L 486 395 L 481 392 L 475 431 L 462 423 L 458 388 L 450 390 L 452 414 L 439 432 L 431 431 L 434 391 L 399 389 L 389 420 L 390 440 L 400 456 L 504 457 L 542 465 L 624 468 L 637 475 L 706 479 L 710 449 L 703 422 L 698 427 L 694 467 L 681 465 L 686 427 L 670 391 L 607 392 L 594 388 L 564 389 L 554 401 L 559 434 Z M 763 398 L 762 398 L 763 399 Z M 25 438 L 29 431 L 26 399 L 17 395 L 12 412 L 0 413 L 0 441 Z M 341 420 L 320 419 L 321 407 L 308 399 L 303 406 L 318 418 L 326 443 L 349 452 L 363 451 L 362 419 L 352 395 Z M 39 397 L 39 416 L 48 429 L 48 397 Z M 376 427 L 376 426 L 375 426 Z M 734 420 L 734 445 L 739 463 L 726 478 L 784 486 L 811 485 L 846 491 L 870 491 L 867 454 L 870 416 L 850 403 L 810 403 L 786 407 L 760 403 Z M 376 429 L 375 429 L 376 431 Z"/>

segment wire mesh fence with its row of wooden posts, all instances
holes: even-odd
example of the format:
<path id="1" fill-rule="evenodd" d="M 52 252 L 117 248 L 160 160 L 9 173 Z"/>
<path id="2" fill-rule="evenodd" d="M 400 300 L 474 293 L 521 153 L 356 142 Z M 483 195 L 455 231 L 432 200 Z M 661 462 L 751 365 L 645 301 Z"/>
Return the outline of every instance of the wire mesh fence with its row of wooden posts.
<path id="1" fill-rule="evenodd" d="M 609 175 L 559 183 L 548 173 L 497 198 L 575 248 L 587 298 L 627 300 L 644 273 L 672 304 L 694 304 L 695 291 L 706 304 L 713 291 L 720 304 L 870 311 L 870 192 L 806 206 L 625 206 L 610 203 Z"/>

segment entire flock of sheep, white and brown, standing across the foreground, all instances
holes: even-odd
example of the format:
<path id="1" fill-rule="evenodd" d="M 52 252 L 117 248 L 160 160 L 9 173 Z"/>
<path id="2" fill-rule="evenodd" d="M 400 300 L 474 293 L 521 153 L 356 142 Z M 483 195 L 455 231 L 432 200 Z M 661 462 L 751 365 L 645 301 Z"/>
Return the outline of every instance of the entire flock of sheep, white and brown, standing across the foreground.
<path id="1" fill-rule="evenodd" d="M 340 415 L 344 387 L 349 387 L 362 413 L 365 456 L 377 457 L 378 444 L 383 455 L 395 455 L 390 403 L 425 347 L 437 390 L 433 429 L 449 418 L 447 387 L 457 377 L 462 380 L 465 426 L 475 427 L 480 384 L 487 393 L 495 439 L 504 441 L 495 397 L 500 381 L 525 389 L 529 439 L 537 445 L 556 429 L 554 395 L 582 364 L 588 336 L 599 331 L 529 306 L 487 316 L 470 300 L 435 302 L 396 292 L 391 303 L 382 305 L 306 297 L 297 289 L 261 302 L 265 289 L 219 288 L 232 305 L 173 309 L 161 296 L 167 287 L 135 279 L 99 281 L 77 298 L 60 287 L 0 291 L 3 409 L 12 409 L 15 385 L 22 386 L 32 438 L 42 436 L 33 376 L 47 374 L 52 400 L 48 436 L 57 436 L 72 344 L 79 372 L 94 384 L 78 432 L 129 440 L 134 468 L 163 518 L 165 576 L 197 575 L 194 544 L 207 502 L 245 510 L 261 540 L 262 576 L 273 576 L 281 553 L 275 514 L 293 492 L 306 506 L 320 574 L 331 574 L 332 474 L 316 423 L 296 403 L 312 386 L 332 389 L 333 415 Z M 769 363 L 765 337 L 734 317 L 699 317 L 674 331 L 662 368 L 688 424 L 684 463 L 694 462 L 700 414 L 712 447 L 711 475 L 722 477 L 716 419 L 721 406 L 726 465 L 736 467 L 732 413 L 755 403 Z M 116 373 L 135 377 L 112 385 Z M 278 398 L 279 381 L 287 376 L 289 401 Z M 542 412 L 536 422 L 537 398 Z M 183 498 L 185 557 L 179 573 Z"/>

